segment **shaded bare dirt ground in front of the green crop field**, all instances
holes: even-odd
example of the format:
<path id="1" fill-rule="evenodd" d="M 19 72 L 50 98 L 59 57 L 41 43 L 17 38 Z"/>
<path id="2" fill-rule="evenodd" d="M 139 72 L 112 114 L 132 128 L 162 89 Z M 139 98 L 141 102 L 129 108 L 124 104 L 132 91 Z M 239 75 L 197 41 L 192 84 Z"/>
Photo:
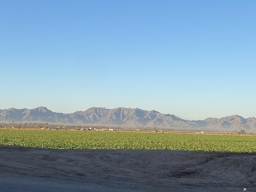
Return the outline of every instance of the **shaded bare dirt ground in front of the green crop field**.
<path id="1" fill-rule="evenodd" d="M 0 146 L 0 191 L 28 186 L 59 192 L 256 191 L 256 153 Z"/>

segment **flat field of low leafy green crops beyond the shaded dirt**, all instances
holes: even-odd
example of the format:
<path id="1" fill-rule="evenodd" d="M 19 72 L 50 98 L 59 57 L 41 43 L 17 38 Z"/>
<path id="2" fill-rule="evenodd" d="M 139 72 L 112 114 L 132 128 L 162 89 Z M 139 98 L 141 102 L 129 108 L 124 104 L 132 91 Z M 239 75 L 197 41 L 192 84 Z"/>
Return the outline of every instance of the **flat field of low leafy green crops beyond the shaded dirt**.
<path id="1" fill-rule="evenodd" d="M 0 130 L 0 144 L 53 149 L 256 152 L 255 136 L 150 132 Z"/>

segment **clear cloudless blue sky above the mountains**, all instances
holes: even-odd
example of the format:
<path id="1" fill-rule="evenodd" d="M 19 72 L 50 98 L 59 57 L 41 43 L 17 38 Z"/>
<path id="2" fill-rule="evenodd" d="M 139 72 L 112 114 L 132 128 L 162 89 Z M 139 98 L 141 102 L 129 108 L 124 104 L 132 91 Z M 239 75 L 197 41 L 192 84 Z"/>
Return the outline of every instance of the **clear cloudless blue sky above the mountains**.
<path id="1" fill-rule="evenodd" d="M 0 109 L 256 117 L 255 0 L 0 0 Z"/>

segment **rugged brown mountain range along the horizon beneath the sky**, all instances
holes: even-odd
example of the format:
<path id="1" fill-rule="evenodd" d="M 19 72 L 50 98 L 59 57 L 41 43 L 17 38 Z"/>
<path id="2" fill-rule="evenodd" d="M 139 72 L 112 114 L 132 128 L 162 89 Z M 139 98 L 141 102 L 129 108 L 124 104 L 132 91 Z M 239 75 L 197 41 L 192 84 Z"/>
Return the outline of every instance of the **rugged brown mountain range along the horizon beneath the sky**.
<path id="1" fill-rule="evenodd" d="M 92 107 L 86 111 L 70 114 L 57 113 L 40 106 L 34 109 L 0 110 L 0 122 L 48 122 L 52 124 L 90 124 L 102 126 L 145 126 L 159 128 L 205 128 L 216 130 L 246 130 L 256 132 L 256 118 L 243 118 L 232 115 L 223 118 L 206 118 L 205 120 L 184 120 L 171 114 L 161 114 L 155 110 L 146 111 L 139 108 L 106 109 Z"/>

